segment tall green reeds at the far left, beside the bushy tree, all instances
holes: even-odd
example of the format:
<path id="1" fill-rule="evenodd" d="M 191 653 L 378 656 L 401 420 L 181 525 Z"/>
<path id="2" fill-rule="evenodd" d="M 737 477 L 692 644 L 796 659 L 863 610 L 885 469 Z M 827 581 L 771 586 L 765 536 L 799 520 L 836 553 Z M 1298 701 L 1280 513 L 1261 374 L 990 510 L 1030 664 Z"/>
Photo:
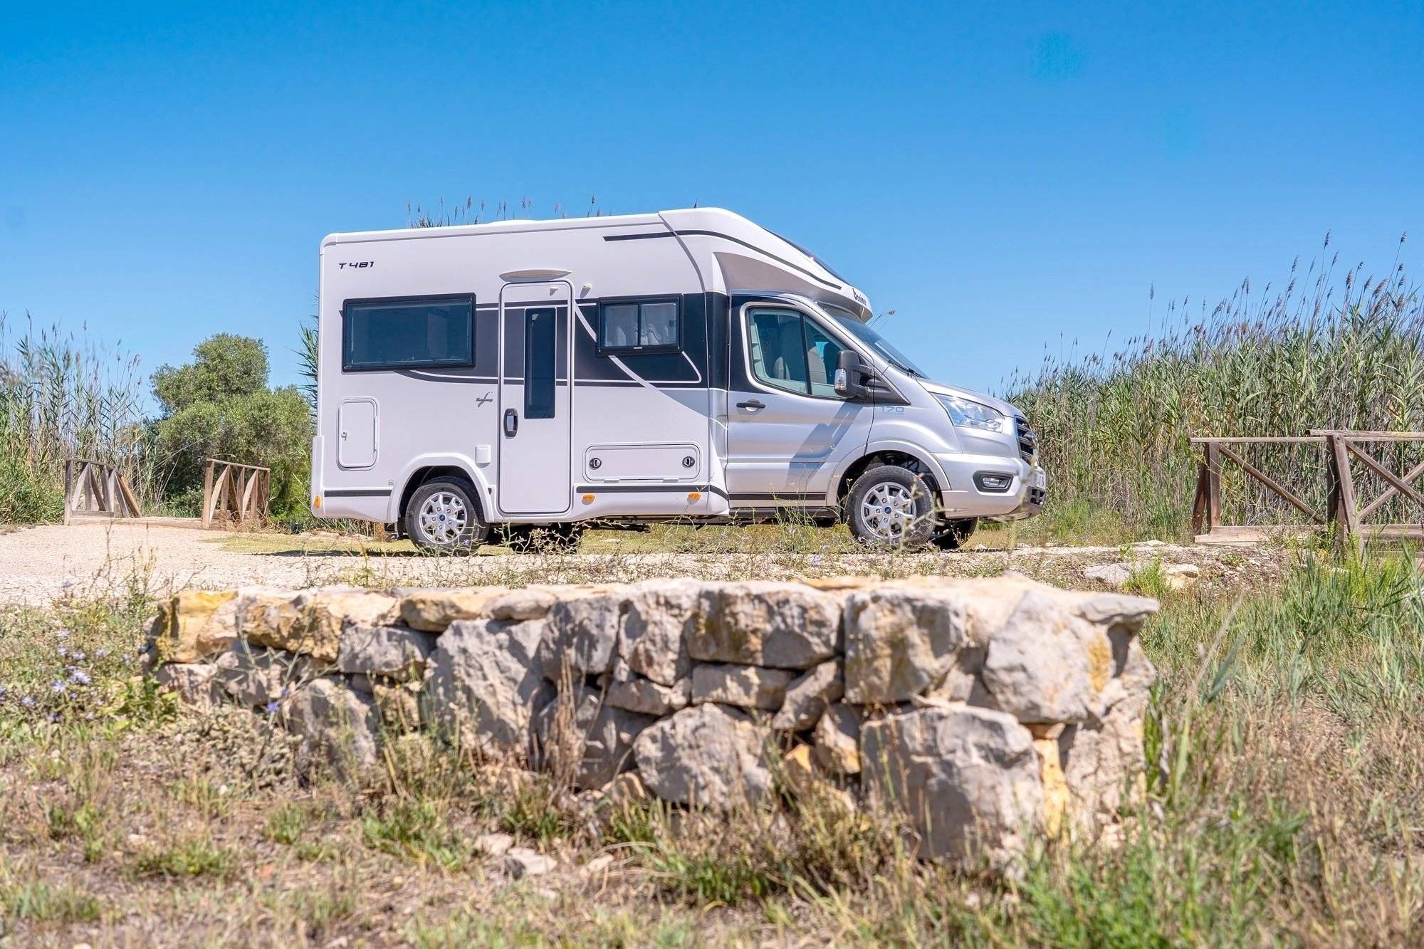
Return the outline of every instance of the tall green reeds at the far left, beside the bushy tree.
<path id="1" fill-rule="evenodd" d="M 0 523 L 58 520 L 70 456 L 117 463 L 147 486 L 141 422 L 137 356 L 0 312 Z"/>

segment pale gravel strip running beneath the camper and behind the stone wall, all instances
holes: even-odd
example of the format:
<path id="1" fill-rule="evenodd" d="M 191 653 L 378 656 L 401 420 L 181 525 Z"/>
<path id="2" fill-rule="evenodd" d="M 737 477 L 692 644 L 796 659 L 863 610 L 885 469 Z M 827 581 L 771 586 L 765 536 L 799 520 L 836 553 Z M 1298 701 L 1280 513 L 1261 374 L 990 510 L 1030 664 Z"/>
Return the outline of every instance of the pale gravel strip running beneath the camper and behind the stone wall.
<path id="1" fill-rule="evenodd" d="M 244 544 L 256 551 L 228 550 Z M 1020 547 L 924 554 L 815 554 L 763 549 L 755 553 L 581 553 L 533 556 L 486 553 L 423 557 L 410 553 L 330 549 L 330 537 L 232 534 L 144 522 L 43 526 L 0 533 L 0 603 L 47 604 L 61 596 L 115 596 L 144 587 L 165 594 L 184 587 L 222 588 L 266 583 L 303 587 L 360 583 L 372 587 L 471 583 L 631 581 L 658 576 L 775 579 L 792 576 L 913 573 L 993 576 L 1018 570 L 1061 586 L 1101 587 L 1085 579 L 1092 564 L 1124 559 L 1121 547 Z M 262 547 L 272 547 L 263 550 Z M 1200 581 L 1237 587 L 1280 569 L 1266 549 L 1179 547 L 1149 543 L 1129 557 L 1200 566 Z"/>

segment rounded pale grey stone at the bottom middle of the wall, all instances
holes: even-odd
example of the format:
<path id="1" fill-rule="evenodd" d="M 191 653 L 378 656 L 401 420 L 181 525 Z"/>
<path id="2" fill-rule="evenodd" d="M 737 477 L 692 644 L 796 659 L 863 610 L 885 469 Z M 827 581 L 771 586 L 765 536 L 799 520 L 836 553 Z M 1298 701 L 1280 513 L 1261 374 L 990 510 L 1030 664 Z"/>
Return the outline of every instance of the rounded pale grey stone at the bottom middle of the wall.
<path id="1" fill-rule="evenodd" d="M 768 738 L 745 712 L 703 702 L 645 728 L 634 755 L 644 785 L 664 801 L 725 811 L 770 794 Z"/>

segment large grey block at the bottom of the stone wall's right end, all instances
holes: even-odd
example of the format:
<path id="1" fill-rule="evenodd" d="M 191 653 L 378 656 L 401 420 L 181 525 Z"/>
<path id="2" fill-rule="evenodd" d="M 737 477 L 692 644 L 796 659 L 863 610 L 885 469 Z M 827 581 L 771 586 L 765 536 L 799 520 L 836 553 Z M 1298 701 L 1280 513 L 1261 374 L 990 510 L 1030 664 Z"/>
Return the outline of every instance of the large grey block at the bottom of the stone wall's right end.
<path id="1" fill-rule="evenodd" d="M 1002 866 L 1042 814 L 1032 735 L 1005 712 L 958 705 L 886 715 L 864 722 L 860 754 L 866 789 L 910 818 L 923 858 Z"/>

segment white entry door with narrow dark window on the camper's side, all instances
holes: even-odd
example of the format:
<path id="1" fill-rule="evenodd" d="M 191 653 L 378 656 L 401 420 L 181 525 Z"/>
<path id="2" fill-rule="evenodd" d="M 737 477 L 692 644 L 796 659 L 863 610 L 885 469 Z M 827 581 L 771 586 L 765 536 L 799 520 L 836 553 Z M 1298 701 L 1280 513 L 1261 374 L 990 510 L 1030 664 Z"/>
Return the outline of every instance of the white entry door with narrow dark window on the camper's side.
<path id="1" fill-rule="evenodd" d="M 500 480 L 504 514 L 560 514 L 571 506 L 572 288 L 506 284 L 500 291 Z"/>

